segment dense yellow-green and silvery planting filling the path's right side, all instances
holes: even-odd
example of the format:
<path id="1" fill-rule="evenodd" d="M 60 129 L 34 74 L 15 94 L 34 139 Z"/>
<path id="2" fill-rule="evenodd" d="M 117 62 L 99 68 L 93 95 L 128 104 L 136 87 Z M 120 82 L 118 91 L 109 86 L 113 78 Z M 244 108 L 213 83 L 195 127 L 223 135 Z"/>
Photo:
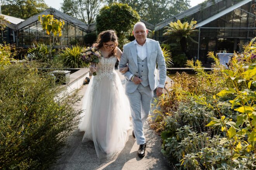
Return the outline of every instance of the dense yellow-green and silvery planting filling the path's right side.
<path id="1" fill-rule="evenodd" d="M 234 54 L 228 66 L 214 53 L 214 70 L 187 61 L 197 76 L 177 74 L 160 97 L 162 152 L 179 169 L 256 168 L 256 43 Z"/>

